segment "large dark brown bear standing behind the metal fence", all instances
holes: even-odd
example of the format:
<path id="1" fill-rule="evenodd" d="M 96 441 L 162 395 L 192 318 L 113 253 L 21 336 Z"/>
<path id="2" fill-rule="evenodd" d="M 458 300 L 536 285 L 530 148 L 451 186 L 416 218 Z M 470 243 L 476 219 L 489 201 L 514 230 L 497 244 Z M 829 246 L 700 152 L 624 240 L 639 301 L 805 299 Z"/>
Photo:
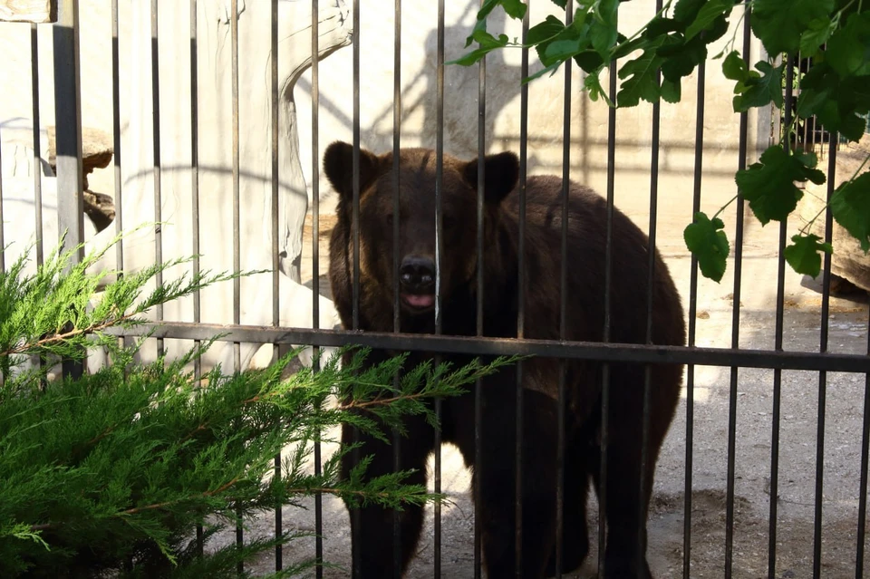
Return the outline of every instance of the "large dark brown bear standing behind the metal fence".
<path id="1" fill-rule="evenodd" d="M 432 333 L 435 329 L 436 283 L 435 183 L 436 154 L 426 149 L 401 150 L 377 156 L 359 153 L 360 280 L 358 326 L 362 331 L 393 329 L 393 283 L 398 275 L 401 332 Z M 393 215 L 393 164 L 399 165 L 400 213 Z M 519 194 L 518 159 L 513 153 L 484 160 L 484 255 L 478 260 L 478 160 L 448 155 L 442 161 L 442 231 L 440 299 L 442 333 L 475 335 L 478 267 L 483 269 L 483 335 L 517 336 Z M 324 172 L 338 192 L 337 223 L 329 247 L 329 278 L 333 299 L 345 328 L 353 316 L 353 147 L 334 142 L 324 154 Z M 604 199 L 592 190 L 570 183 L 567 227 L 565 337 L 601 342 L 604 332 Z M 525 237 L 526 338 L 559 338 L 561 294 L 562 179 L 527 179 Z M 394 219 L 399 238 L 393 239 Z M 610 337 L 615 343 L 645 343 L 649 240 L 623 213 L 614 209 L 610 290 Z M 395 244 L 395 245 L 394 245 Z M 399 269 L 393 271 L 393 247 Z M 682 345 L 685 322 L 680 296 L 668 268 L 656 252 L 652 287 L 652 343 Z M 372 352 L 370 362 L 389 352 Z M 431 354 L 412 355 L 410 363 Z M 444 354 L 454 364 L 470 356 Z M 562 571 L 574 570 L 588 551 L 586 495 L 590 479 L 596 491 L 600 479 L 602 440 L 602 363 L 565 362 L 565 468 Z M 493 578 L 544 577 L 555 574 L 557 416 L 560 362 L 543 357 L 522 364 L 522 478 L 521 550 L 515 540 L 515 473 L 517 470 L 517 368 L 511 367 L 482 381 L 479 424 L 482 447 L 475 464 L 475 395 L 472 392 L 442 401 L 441 437 L 455 444 L 479 483 L 483 560 Z M 652 477 L 662 439 L 676 410 L 682 367 L 651 364 L 648 437 L 643 454 L 644 366 L 611 363 L 606 452 L 606 523 L 604 577 L 651 577 L 646 562 L 646 517 Z M 405 420 L 407 439 L 399 441 L 398 466 L 415 469 L 410 482 L 426 482 L 426 458 L 434 450 L 433 429 L 420 417 Z M 358 433 L 357 433 L 358 434 Z M 343 440 L 351 442 L 353 429 Z M 367 473 L 393 471 L 390 445 L 361 437 L 359 454 L 372 455 Z M 357 458 L 359 459 L 359 455 Z M 348 454 L 346 475 L 354 466 Z M 644 487 L 641 473 L 645 468 Z M 353 517 L 352 517 L 353 518 Z M 354 556 L 365 578 L 398 576 L 407 568 L 420 537 L 423 512 L 407 508 L 399 516 L 399 535 L 393 534 L 393 513 L 364 507 L 354 528 Z M 352 526 L 354 524 L 352 523 Z M 395 541 L 399 541 L 396 547 Z M 393 568 L 393 549 L 401 554 L 401 569 Z M 519 563 L 517 563 L 517 559 Z M 521 573 L 517 574 L 517 565 Z"/>

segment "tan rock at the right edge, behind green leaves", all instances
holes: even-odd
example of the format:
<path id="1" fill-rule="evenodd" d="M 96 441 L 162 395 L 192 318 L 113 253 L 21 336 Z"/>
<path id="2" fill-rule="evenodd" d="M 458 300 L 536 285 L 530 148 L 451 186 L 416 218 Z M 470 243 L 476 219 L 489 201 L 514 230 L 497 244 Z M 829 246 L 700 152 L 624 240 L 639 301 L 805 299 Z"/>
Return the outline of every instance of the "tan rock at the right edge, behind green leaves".
<path id="1" fill-rule="evenodd" d="M 870 134 L 856 143 L 840 145 L 836 151 L 836 179 L 835 186 L 851 179 L 855 171 L 870 155 Z M 800 218 L 801 227 L 805 226 L 819 211 L 825 207 L 827 198 L 827 183 L 816 185 L 807 183 L 804 197 L 797 205 L 797 215 Z M 825 215 L 820 215 L 809 233 L 822 238 L 825 237 Z M 831 234 L 831 243 L 834 246 L 834 255 L 831 258 L 831 273 L 846 279 L 848 282 L 870 292 L 870 255 L 864 253 L 861 245 L 855 237 L 834 222 L 834 231 Z"/>

